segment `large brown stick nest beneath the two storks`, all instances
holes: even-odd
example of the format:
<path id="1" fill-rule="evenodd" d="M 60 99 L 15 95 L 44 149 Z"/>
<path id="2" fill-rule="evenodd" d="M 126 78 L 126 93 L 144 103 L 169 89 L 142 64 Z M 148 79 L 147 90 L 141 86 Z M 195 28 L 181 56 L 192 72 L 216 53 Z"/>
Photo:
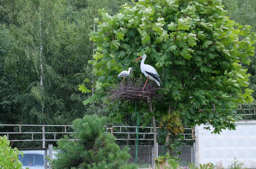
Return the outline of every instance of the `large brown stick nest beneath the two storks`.
<path id="1" fill-rule="evenodd" d="M 148 102 L 151 102 L 153 98 L 159 99 L 160 96 L 156 94 L 156 90 L 158 90 L 159 87 L 156 83 L 149 80 L 144 90 L 142 90 L 143 86 L 144 83 L 141 79 L 137 79 L 135 81 L 127 78 L 124 83 L 120 83 L 119 85 L 110 88 L 108 91 L 108 97 L 111 100 L 124 99 L 127 101 L 133 101 L 136 99 L 147 100 Z"/>

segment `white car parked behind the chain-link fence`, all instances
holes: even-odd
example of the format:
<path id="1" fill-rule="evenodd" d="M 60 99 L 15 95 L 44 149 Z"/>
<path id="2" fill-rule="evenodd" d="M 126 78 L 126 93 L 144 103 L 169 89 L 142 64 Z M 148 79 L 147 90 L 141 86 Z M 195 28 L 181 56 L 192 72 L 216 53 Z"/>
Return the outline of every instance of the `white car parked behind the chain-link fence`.
<path id="1" fill-rule="evenodd" d="M 22 169 L 26 169 L 26 167 L 28 167 L 29 169 L 44 169 L 44 164 L 45 164 L 44 150 L 32 150 L 32 151 L 22 151 L 22 152 L 24 153 L 23 157 L 22 155 L 18 156 L 18 159 L 23 164 Z M 56 158 L 54 153 L 57 153 L 57 152 L 56 151 L 53 152 L 53 158 Z"/>

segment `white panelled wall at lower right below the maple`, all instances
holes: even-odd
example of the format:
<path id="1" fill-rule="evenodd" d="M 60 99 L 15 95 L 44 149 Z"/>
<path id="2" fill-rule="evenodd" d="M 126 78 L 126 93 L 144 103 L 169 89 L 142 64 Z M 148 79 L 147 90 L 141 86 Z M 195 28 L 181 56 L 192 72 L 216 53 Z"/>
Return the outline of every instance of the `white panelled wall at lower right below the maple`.
<path id="1" fill-rule="evenodd" d="M 236 125 L 236 130 L 223 130 L 220 134 L 204 129 L 210 125 L 196 126 L 197 165 L 216 165 L 221 161 L 223 167 L 228 168 L 236 157 L 244 162 L 244 167 L 256 168 L 256 120 L 241 120 Z"/>

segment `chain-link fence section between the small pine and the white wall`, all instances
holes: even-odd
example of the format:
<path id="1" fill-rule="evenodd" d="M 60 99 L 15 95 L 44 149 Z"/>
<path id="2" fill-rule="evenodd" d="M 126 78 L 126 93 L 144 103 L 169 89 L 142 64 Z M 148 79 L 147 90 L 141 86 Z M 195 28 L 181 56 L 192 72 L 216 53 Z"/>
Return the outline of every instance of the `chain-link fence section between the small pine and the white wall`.
<path id="1" fill-rule="evenodd" d="M 123 148 L 124 146 L 120 146 Z M 131 155 L 128 163 L 135 163 L 136 155 L 136 146 L 128 146 L 130 150 L 128 153 Z M 153 155 L 153 145 L 138 145 L 138 155 L 137 155 L 137 164 L 138 168 L 149 168 L 154 165 L 154 155 Z M 178 153 L 180 151 L 180 153 Z M 193 158 L 193 145 L 182 145 L 178 148 L 178 151 L 173 151 L 172 156 L 177 157 L 177 162 L 180 163 L 180 166 L 186 167 L 189 163 L 194 162 Z M 166 150 L 164 145 L 158 146 L 158 155 L 164 155 Z"/>

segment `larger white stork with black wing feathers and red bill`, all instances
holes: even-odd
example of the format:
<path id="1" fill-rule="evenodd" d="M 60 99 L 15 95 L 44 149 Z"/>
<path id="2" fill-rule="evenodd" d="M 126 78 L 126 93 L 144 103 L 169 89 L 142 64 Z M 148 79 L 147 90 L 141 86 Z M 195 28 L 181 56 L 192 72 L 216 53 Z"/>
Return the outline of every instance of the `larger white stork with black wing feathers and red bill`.
<path id="1" fill-rule="evenodd" d="M 147 55 L 144 54 L 142 57 L 138 57 L 138 59 L 136 60 L 136 61 L 138 61 L 139 59 L 142 59 L 142 61 L 140 63 L 140 70 L 147 77 L 146 83 L 142 90 L 144 90 L 144 88 L 146 87 L 146 85 L 148 83 L 148 79 L 155 81 L 158 86 L 160 86 L 160 83 L 162 83 L 159 78 L 158 73 L 156 72 L 156 69 L 150 65 L 144 64 L 146 57 L 147 57 Z M 136 62 L 136 61 L 134 61 L 134 62 Z"/>

